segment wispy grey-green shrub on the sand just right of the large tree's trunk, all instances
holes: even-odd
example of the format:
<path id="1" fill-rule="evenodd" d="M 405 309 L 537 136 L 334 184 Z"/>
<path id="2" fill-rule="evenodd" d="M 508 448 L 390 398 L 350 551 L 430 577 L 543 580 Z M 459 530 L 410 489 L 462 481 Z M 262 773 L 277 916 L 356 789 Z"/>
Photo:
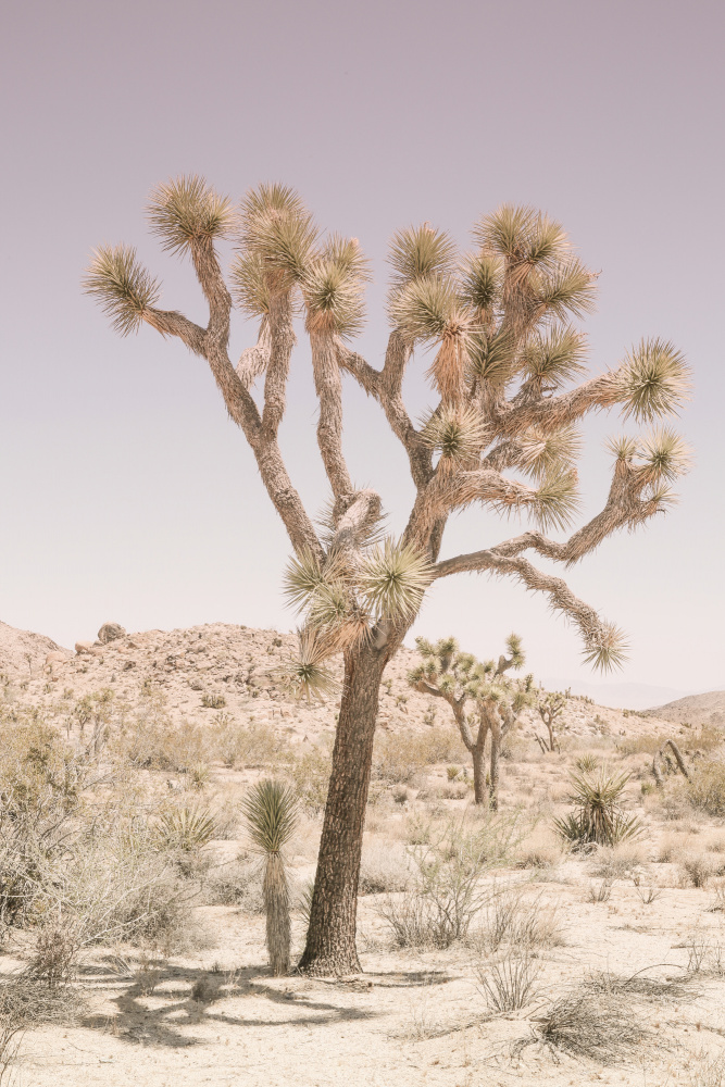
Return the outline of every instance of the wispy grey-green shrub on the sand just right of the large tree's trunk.
<path id="1" fill-rule="evenodd" d="M 422 833 L 427 832 L 427 833 Z M 411 886 L 388 897 L 379 912 L 398 947 L 448 948 L 465 939 L 488 900 L 483 873 L 502 864 L 521 839 L 516 815 L 450 820 L 442 827 L 416 826 L 409 847 Z"/>

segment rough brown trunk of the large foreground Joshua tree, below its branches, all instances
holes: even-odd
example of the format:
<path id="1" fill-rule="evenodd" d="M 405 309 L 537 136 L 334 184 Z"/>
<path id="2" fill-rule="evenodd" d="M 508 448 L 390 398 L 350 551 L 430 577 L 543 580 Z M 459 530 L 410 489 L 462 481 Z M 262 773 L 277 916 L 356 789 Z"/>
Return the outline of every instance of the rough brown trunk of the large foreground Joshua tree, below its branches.
<path id="1" fill-rule="evenodd" d="M 358 877 L 370 788 L 373 739 L 385 651 L 345 654 L 345 688 L 333 751 L 310 925 L 299 969 L 314 974 L 360 971 L 355 947 Z"/>

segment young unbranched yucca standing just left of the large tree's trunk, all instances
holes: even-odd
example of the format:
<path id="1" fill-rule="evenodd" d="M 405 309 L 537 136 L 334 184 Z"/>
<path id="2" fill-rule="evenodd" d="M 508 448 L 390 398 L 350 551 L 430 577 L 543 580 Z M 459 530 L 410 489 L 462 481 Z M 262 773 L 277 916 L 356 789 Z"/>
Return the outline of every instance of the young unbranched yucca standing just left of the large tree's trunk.
<path id="1" fill-rule="evenodd" d="M 275 975 L 289 972 L 290 920 L 289 884 L 283 850 L 295 834 L 299 805 L 289 786 L 279 782 L 258 782 L 241 804 L 247 832 L 264 858 L 264 911 L 266 947 Z"/>

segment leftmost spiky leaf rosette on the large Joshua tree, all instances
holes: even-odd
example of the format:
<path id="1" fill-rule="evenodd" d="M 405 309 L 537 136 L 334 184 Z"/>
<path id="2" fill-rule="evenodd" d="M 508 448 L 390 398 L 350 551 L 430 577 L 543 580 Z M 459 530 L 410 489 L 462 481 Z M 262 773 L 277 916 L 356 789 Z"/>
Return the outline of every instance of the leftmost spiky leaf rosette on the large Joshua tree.
<path id="1" fill-rule="evenodd" d="M 161 287 L 130 246 L 101 246 L 83 280 L 84 290 L 98 300 L 121 336 L 138 332 L 145 315 L 159 301 Z"/>

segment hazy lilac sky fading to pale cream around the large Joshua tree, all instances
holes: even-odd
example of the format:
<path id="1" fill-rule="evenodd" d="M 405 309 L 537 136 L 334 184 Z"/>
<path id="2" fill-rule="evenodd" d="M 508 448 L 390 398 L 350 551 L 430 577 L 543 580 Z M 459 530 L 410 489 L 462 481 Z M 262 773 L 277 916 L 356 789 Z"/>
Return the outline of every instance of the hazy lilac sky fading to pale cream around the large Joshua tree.
<path id="1" fill-rule="evenodd" d="M 725 686 L 723 576 L 722 2 L 497 3 L 104 0 L 5 2 L 1 79 L 2 535 L 0 619 L 64 645 L 225 621 L 289 628 L 288 544 L 243 437 L 204 368 L 145 328 L 121 340 L 79 287 L 92 246 L 127 241 L 164 278 L 162 304 L 203 320 L 187 264 L 145 225 L 158 182 L 198 172 L 240 197 L 295 186 L 374 262 L 360 348 L 379 365 L 391 233 L 429 221 L 462 245 L 502 201 L 560 218 L 601 270 L 587 322 L 595 371 L 641 336 L 684 349 L 696 396 L 682 429 L 696 468 L 682 502 L 607 541 L 574 589 L 626 628 L 622 678 Z M 253 329 L 238 321 L 235 352 Z M 411 372 L 414 414 L 426 360 Z M 348 386 L 353 477 L 395 528 L 405 461 Z M 284 449 L 311 509 L 325 499 L 301 345 Z M 605 497 L 605 435 L 588 426 L 585 513 Z M 515 525 L 473 511 L 445 553 Z M 492 655 L 511 629 L 537 674 L 588 677 L 573 629 L 510 582 L 439 583 L 416 629 Z"/>

